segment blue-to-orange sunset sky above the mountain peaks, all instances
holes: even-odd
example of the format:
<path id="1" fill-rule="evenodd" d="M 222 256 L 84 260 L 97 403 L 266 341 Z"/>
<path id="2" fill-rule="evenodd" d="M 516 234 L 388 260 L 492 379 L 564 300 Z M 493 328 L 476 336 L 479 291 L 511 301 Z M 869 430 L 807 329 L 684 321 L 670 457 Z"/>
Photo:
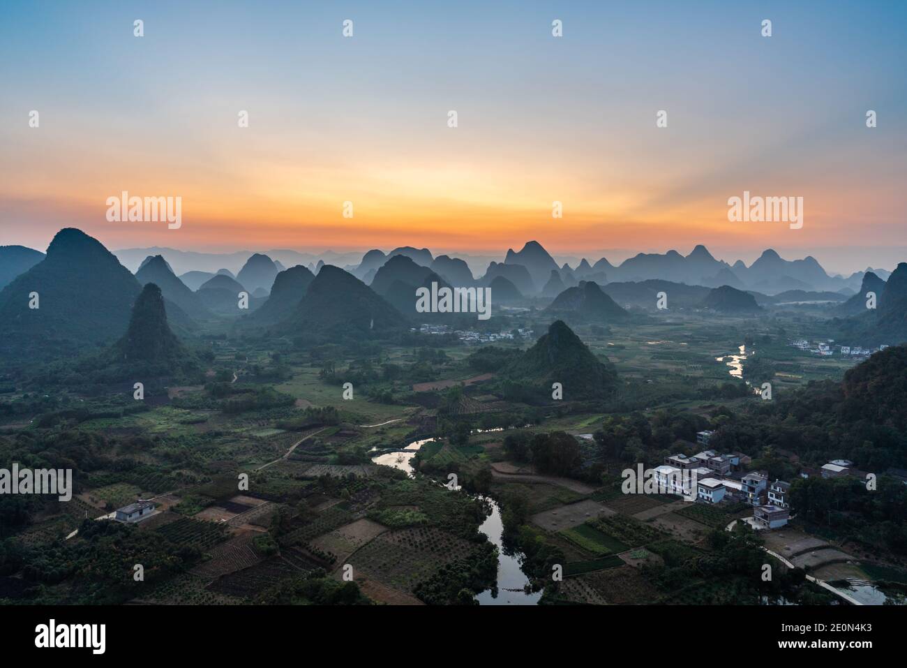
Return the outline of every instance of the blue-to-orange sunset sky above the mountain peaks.
<path id="1" fill-rule="evenodd" d="M 907 260 L 905 19 L 894 0 L 5 0 L 0 245 L 44 250 L 74 226 L 111 249 L 502 255 L 532 239 L 594 261 L 704 243 L 891 269 Z M 180 228 L 107 221 L 124 191 L 180 197 Z M 745 191 L 803 197 L 803 227 L 728 221 Z"/>

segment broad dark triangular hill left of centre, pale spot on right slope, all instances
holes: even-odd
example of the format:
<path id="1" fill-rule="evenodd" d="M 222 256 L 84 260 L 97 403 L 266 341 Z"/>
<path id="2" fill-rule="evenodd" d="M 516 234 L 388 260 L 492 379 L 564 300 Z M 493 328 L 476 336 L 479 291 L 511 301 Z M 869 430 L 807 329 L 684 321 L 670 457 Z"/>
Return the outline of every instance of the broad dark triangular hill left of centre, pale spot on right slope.
<path id="1" fill-rule="evenodd" d="M 288 333 L 375 338 L 409 325 L 404 316 L 352 274 L 326 264 L 306 296 L 281 323 Z"/>

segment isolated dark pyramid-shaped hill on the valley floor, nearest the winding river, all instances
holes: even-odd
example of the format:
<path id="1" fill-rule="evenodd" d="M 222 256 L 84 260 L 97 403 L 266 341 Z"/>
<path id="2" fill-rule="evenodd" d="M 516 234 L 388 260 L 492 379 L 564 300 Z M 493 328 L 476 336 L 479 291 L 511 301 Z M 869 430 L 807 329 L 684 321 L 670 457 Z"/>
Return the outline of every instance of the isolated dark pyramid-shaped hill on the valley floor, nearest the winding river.
<path id="1" fill-rule="evenodd" d="M 588 401 L 609 395 L 617 382 L 610 362 L 602 362 L 562 320 L 512 361 L 502 378 L 551 397 L 551 384 L 561 383 L 563 398 Z"/>

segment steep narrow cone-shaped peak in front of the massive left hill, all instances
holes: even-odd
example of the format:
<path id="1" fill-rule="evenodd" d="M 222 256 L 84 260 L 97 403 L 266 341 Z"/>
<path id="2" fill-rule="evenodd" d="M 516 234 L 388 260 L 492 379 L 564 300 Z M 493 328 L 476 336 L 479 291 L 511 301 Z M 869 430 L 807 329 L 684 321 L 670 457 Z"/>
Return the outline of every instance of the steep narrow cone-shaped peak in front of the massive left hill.
<path id="1" fill-rule="evenodd" d="M 145 374 L 180 375 L 199 366 L 171 331 L 161 289 L 154 283 L 146 283 L 135 300 L 129 329 L 113 344 L 110 359 L 122 368 L 124 377 L 135 380 Z"/>

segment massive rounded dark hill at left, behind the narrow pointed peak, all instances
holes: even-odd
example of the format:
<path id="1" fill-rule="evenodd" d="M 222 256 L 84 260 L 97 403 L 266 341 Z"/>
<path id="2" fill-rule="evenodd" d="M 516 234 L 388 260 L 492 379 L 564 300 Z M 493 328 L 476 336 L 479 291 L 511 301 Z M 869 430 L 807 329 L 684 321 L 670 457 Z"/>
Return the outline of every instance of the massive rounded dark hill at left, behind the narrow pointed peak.
<path id="1" fill-rule="evenodd" d="M 52 355 L 122 336 L 141 287 L 100 241 L 83 231 L 57 232 L 47 256 L 0 291 L 0 350 Z M 38 309 L 29 295 L 38 294 Z"/>

